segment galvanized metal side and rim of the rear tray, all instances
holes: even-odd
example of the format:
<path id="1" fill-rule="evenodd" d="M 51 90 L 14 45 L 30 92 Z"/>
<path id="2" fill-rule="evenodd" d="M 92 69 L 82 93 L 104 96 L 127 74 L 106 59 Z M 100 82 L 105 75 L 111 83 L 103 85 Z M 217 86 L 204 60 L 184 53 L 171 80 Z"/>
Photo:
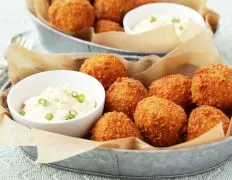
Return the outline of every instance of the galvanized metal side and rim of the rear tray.
<path id="1" fill-rule="evenodd" d="M 67 35 L 60 32 L 38 19 L 28 10 L 28 14 L 35 25 L 35 29 L 41 45 L 50 53 L 75 53 L 75 52 L 102 52 L 102 53 L 117 53 L 121 55 L 158 55 L 164 56 L 163 53 L 145 53 L 127 51 L 108 46 L 99 45 L 90 41 L 82 40 L 77 37 Z"/>

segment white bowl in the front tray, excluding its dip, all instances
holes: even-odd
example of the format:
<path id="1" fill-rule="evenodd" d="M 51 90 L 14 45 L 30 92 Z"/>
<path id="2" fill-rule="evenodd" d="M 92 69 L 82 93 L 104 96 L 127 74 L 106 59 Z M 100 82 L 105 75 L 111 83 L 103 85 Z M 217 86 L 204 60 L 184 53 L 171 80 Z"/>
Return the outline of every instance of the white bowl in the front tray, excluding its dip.
<path id="1" fill-rule="evenodd" d="M 63 87 L 66 83 L 93 96 L 96 107 L 81 117 L 61 122 L 38 122 L 19 115 L 18 112 L 25 100 L 40 95 L 47 87 Z M 93 123 L 101 117 L 104 103 L 105 90 L 98 80 L 87 74 L 69 70 L 47 71 L 29 76 L 15 84 L 7 97 L 7 104 L 15 121 L 31 128 L 74 137 L 83 137 L 89 131 Z"/>

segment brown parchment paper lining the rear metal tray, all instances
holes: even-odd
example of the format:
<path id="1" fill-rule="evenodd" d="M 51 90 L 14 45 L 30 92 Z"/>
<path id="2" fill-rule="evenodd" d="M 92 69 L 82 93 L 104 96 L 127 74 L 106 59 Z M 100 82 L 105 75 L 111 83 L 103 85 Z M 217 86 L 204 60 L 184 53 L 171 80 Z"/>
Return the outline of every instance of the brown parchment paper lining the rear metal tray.
<path id="1" fill-rule="evenodd" d="M 172 2 L 193 8 L 205 18 L 206 23 L 213 31 L 217 29 L 219 15 L 206 7 L 206 0 L 159 0 L 157 2 Z M 43 23 L 57 29 L 49 23 L 49 6 L 50 4 L 48 0 L 27 0 L 27 7 L 36 17 L 38 17 Z M 124 32 L 106 32 L 96 34 L 92 27 L 75 33 L 65 32 L 61 29 L 58 30 L 66 34 L 79 37 L 80 39 L 113 48 L 146 53 L 165 53 L 175 49 L 177 46 L 187 41 L 189 39 L 187 37 L 192 37 L 201 30 L 202 27 L 195 23 L 194 26 L 197 28 L 192 28 L 192 23 L 193 22 L 190 22 L 190 27 L 186 28 L 188 36 L 181 35 L 180 37 L 177 36 L 174 27 L 171 25 L 160 27 L 138 35 L 128 35 Z"/>

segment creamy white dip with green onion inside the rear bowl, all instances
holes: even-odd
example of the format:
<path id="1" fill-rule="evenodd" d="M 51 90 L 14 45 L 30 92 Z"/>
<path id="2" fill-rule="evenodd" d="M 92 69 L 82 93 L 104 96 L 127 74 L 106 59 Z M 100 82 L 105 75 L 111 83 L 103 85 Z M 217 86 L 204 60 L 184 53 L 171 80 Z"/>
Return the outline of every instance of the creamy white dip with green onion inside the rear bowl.
<path id="1" fill-rule="evenodd" d="M 146 31 L 150 31 L 165 25 L 174 25 L 177 35 L 181 35 L 186 29 L 189 22 L 188 18 L 184 17 L 173 17 L 164 14 L 150 16 L 139 23 L 137 23 L 132 32 L 134 34 L 140 34 Z"/>

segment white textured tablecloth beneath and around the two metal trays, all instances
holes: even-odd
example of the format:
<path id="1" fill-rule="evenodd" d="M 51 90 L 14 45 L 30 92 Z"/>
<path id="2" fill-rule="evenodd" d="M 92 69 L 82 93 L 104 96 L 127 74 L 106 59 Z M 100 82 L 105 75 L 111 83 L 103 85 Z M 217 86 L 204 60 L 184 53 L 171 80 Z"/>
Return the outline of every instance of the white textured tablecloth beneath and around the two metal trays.
<path id="1" fill-rule="evenodd" d="M 220 53 L 232 60 L 232 1 L 208 0 L 210 7 L 220 12 L 220 28 L 215 36 L 215 44 Z M 0 55 L 4 53 L 12 35 L 31 27 L 30 19 L 24 11 L 24 0 L 0 0 Z M 14 132 L 12 132 L 14 133 Z M 0 147 L 0 179 L 4 180 L 107 180 L 108 178 L 89 176 L 35 165 L 18 147 Z M 180 180 L 230 180 L 232 161 L 214 171 L 181 178 Z"/>

